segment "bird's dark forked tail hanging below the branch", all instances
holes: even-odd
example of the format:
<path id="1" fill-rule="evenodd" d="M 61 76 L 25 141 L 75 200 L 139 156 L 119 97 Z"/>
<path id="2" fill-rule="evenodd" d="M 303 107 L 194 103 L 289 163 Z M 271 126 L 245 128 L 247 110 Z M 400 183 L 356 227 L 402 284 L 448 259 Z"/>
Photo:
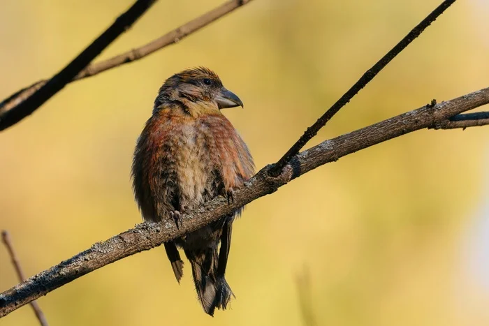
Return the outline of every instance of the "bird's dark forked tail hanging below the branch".
<path id="1" fill-rule="evenodd" d="M 186 250 L 185 255 L 189 258 L 198 299 L 205 313 L 214 316 L 216 308 L 226 309 L 234 295 L 224 275 L 217 274 L 217 248 L 198 252 Z"/>

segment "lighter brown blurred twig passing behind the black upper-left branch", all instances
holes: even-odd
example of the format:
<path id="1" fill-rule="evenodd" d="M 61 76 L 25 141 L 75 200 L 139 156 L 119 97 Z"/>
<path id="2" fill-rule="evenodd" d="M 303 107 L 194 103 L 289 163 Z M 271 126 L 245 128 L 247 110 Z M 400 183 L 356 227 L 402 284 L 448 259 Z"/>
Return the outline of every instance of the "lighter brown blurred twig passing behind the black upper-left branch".
<path id="1" fill-rule="evenodd" d="M 186 24 L 183 24 L 176 29 L 173 29 L 173 31 L 170 31 L 167 34 L 156 38 L 156 40 L 152 40 L 152 42 L 149 42 L 143 46 L 137 47 L 133 50 L 129 50 L 122 54 L 118 54 L 110 59 L 90 64 L 68 82 L 74 82 L 76 80 L 97 75 L 98 73 L 102 73 L 103 71 L 108 71 L 109 69 L 121 66 L 123 64 L 129 64 L 130 62 L 142 59 L 143 57 L 146 57 L 147 55 L 152 54 L 153 52 L 156 52 L 163 47 L 179 42 L 190 34 L 193 34 L 199 29 L 207 26 L 215 20 L 218 20 L 224 15 L 231 13 L 233 10 L 240 8 L 241 6 L 244 6 L 251 1 L 252 0 L 226 1 L 221 6 L 208 11 L 200 17 L 197 17 L 194 20 L 187 22 Z M 5 114 L 5 112 L 13 110 L 14 108 L 15 110 L 17 110 L 17 105 L 29 98 L 29 96 L 34 94 L 34 92 L 40 89 L 46 82 L 48 81 L 40 80 L 29 87 L 17 91 L 15 94 L 3 100 L 3 102 L 0 103 L 0 121 L 1 119 L 3 119 L 3 115 Z"/>

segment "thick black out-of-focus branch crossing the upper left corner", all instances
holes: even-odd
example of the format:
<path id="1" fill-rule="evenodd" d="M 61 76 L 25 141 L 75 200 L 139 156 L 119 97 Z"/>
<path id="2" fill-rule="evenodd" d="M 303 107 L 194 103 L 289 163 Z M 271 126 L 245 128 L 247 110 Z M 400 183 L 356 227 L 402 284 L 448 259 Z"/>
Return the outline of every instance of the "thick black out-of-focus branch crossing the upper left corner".
<path id="1" fill-rule="evenodd" d="M 156 0 L 137 0 L 131 8 L 120 15 L 115 22 L 106 29 L 101 36 L 98 36 L 92 44 L 83 50 L 78 57 L 73 59 L 68 66 L 64 67 L 59 73 L 54 75 L 48 82 L 42 84 L 41 88 L 21 101 L 11 110 L 2 110 L 0 115 L 0 131 L 16 124 L 20 120 L 39 108 L 45 101 L 48 101 L 54 94 L 63 89 L 80 71 L 85 68 L 90 61 L 100 54 L 105 47 L 108 47 L 117 36 L 121 35 L 131 27 L 131 25 L 141 17 Z M 39 85 L 37 82 L 35 85 Z M 20 94 L 25 94 L 25 90 Z M 11 96 L 10 96 L 11 97 Z"/>

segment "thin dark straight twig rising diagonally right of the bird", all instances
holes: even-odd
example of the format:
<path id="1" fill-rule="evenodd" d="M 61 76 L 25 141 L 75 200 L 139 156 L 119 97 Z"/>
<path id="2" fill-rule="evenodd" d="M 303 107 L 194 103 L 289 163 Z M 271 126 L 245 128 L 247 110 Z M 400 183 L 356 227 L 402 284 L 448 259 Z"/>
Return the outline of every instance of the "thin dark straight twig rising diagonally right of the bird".
<path id="1" fill-rule="evenodd" d="M 271 172 L 272 175 L 278 175 L 280 171 L 284 168 L 284 166 L 289 163 L 291 158 L 298 154 L 300 149 L 306 145 L 309 140 L 311 140 L 317 133 L 318 131 L 323 128 L 323 126 L 328 123 L 328 121 L 338 112 L 346 103 L 349 103 L 351 98 L 355 96 L 358 91 L 363 89 L 366 84 L 368 84 L 389 62 L 394 59 L 397 54 L 400 54 L 404 48 L 407 47 L 415 38 L 417 38 L 423 31 L 426 29 L 426 27 L 430 26 L 432 22 L 434 22 L 439 15 L 444 13 L 446 8 L 451 6 L 452 3 L 454 3 L 455 0 L 446 0 L 443 1 L 435 10 L 430 13 L 422 22 L 420 22 L 414 29 L 411 29 L 411 31 L 407 34 L 407 36 L 404 36 L 402 40 L 395 45 L 391 49 L 391 51 L 387 52 L 384 57 L 382 57 L 379 61 L 377 61 L 377 64 L 374 64 L 372 68 L 367 70 L 360 79 L 353 84 L 353 86 L 346 91 L 343 96 L 336 101 L 331 108 L 328 109 L 312 126 L 307 128 L 305 133 L 299 138 L 297 142 L 282 156 L 282 158 L 275 163 L 275 166 L 272 168 Z"/>

